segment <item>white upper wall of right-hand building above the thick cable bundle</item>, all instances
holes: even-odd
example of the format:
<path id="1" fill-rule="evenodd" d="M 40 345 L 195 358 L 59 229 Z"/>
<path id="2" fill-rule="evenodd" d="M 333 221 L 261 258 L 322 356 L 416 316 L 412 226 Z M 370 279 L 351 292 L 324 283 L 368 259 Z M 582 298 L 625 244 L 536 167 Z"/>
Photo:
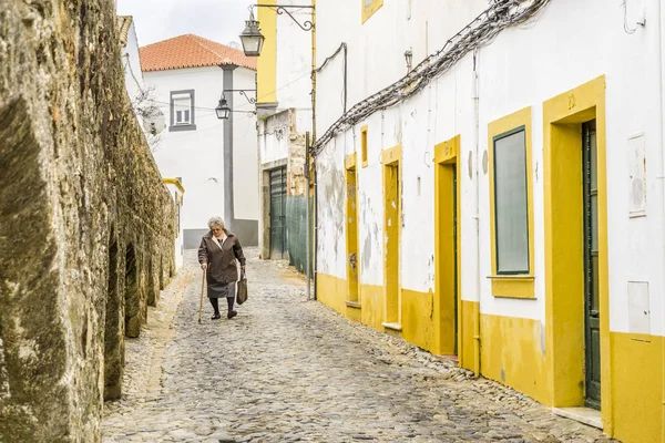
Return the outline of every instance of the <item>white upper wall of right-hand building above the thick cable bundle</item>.
<path id="1" fill-rule="evenodd" d="M 319 0 L 317 66 L 341 42 L 348 43 L 348 107 L 396 82 L 407 73 L 405 51 L 413 66 L 439 50 L 446 40 L 488 7 L 487 0 L 401 0 L 383 6 L 361 24 L 358 0 Z M 317 133 L 323 134 L 341 109 L 341 54 L 318 74 Z"/>

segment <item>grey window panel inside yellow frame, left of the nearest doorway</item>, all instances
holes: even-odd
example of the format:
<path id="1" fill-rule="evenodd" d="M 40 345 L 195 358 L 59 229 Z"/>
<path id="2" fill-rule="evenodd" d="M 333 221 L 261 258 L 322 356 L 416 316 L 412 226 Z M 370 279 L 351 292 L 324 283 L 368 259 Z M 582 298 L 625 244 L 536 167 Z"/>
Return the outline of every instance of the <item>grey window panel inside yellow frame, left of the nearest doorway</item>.
<path id="1" fill-rule="evenodd" d="M 524 126 L 494 137 L 497 274 L 529 274 Z"/>

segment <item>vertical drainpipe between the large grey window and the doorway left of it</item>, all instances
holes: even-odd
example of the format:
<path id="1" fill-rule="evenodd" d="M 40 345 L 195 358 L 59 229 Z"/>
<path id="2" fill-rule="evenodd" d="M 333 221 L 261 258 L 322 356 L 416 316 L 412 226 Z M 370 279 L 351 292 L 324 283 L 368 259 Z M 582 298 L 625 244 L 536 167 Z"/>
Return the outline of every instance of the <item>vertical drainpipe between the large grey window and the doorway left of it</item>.
<path id="1" fill-rule="evenodd" d="M 475 377 L 480 377 L 480 104 L 478 94 L 478 53 L 479 50 L 473 51 L 473 120 L 475 124 L 475 141 L 473 144 L 473 162 L 475 174 L 473 182 L 473 207 L 475 215 L 473 222 L 475 224 L 475 293 L 478 297 L 478 308 L 473 310 L 473 373 Z"/>

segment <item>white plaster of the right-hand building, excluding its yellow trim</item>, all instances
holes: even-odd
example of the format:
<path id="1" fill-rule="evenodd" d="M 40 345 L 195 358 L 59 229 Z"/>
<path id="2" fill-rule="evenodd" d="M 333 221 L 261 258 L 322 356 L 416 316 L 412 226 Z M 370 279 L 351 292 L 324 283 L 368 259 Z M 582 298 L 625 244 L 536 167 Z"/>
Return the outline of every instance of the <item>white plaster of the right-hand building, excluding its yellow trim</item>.
<path id="1" fill-rule="evenodd" d="M 426 42 L 419 33 L 428 24 L 429 52 L 443 45 L 447 35 L 467 24 L 487 2 L 412 2 L 411 19 L 403 17 L 403 3 L 386 2 L 360 25 L 360 6 L 355 1 L 317 3 L 318 54 L 326 56 L 340 40 L 360 41 L 361 49 L 349 47 L 349 104 L 365 99 L 397 80 L 405 72 L 403 47 L 413 44 L 415 63 L 421 59 Z M 416 3 L 423 9 L 416 9 Z M 448 7 L 457 6 L 454 10 Z M 613 331 L 628 332 L 627 281 L 648 281 L 651 289 L 651 333 L 663 334 L 663 195 L 662 175 L 661 53 L 658 47 L 658 6 L 628 0 L 627 21 L 634 27 L 644 6 L 646 23 L 634 34 L 624 31 L 624 12 L 607 8 L 604 0 L 552 1 L 530 25 L 502 32 L 479 52 L 479 131 L 475 132 L 473 105 L 473 60 L 467 55 L 457 66 L 433 81 L 418 96 L 383 113 L 377 112 L 355 128 L 340 134 L 319 158 L 319 270 L 345 277 L 344 224 L 335 214 L 327 216 L 331 172 L 344 169 L 345 152 L 359 152 L 360 126 L 367 124 L 369 166 L 360 168 L 359 218 L 361 228 L 361 279 L 382 285 L 382 248 L 374 226 L 382 233 L 380 151 L 401 143 L 403 171 L 405 226 L 401 243 L 400 281 L 403 288 L 427 291 L 433 288 L 433 146 L 461 135 L 462 186 L 462 281 L 464 299 L 477 300 L 480 282 L 481 311 L 485 313 L 538 319 L 544 322 L 544 219 L 543 219 L 543 128 L 542 103 L 598 75 L 606 76 L 606 141 L 608 194 L 610 324 Z M 429 7 L 424 9 L 424 7 Z M 401 9 L 400 9 L 401 8 Z M 420 8 L 420 7 L 418 7 Z M 357 11 L 357 12 L 355 12 Z M 370 37 L 371 35 L 371 37 Z M 365 40 L 364 40 L 365 39 Z M 371 40 L 370 40 L 371 39 Z M 365 51 L 365 52 L 362 52 Z M 352 54 L 352 55 L 351 55 Z M 323 60 L 323 59 L 321 59 Z M 351 74 L 352 73 L 352 74 Z M 319 122 L 339 117 L 339 79 L 318 79 Z M 491 295 L 489 177 L 482 171 L 487 151 L 488 124 L 525 106 L 532 106 L 532 174 L 534 178 L 534 251 L 536 300 L 497 299 Z M 323 134 L 327 126 L 319 126 Z M 627 138 L 644 132 L 646 140 L 647 216 L 628 217 Z M 469 176 L 469 155 L 479 142 L 479 156 L 471 164 L 480 174 L 480 275 L 475 272 L 473 183 Z M 342 143 L 340 141 L 346 141 Z M 359 154 L 358 154 L 359 155 Z M 420 176 L 420 194 L 418 177 Z M 342 202 L 337 206 L 344 208 Z M 341 218 L 342 220 L 344 218 Z M 341 224 L 341 225 L 340 225 Z M 325 240 L 325 241 L 321 241 Z M 369 245 L 369 246 L 366 246 Z M 369 250 L 369 253 L 368 253 Z M 370 257 L 362 257 L 369 255 Z"/>

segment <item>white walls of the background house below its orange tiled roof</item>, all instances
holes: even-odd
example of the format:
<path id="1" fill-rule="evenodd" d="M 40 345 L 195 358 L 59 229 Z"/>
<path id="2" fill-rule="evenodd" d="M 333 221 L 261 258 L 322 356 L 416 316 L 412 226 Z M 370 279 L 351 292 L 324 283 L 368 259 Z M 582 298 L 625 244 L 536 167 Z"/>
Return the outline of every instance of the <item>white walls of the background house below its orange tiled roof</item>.
<path id="1" fill-rule="evenodd" d="M 223 90 L 221 68 L 194 68 L 146 72 L 155 87 L 155 104 L 164 112 L 166 130 L 154 152 L 164 177 L 182 177 L 187 190 L 184 229 L 205 229 L 213 215 L 224 214 L 224 121 L 215 107 Z M 234 89 L 255 89 L 254 71 L 234 71 Z M 194 90 L 195 131 L 170 132 L 172 91 Z M 234 93 L 234 110 L 250 111 L 246 100 Z M 247 92 L 252 97 L 254 94 Z M 256 116 L 234 113 L 234 212 L 241 219 L 258 218 Z"/>

